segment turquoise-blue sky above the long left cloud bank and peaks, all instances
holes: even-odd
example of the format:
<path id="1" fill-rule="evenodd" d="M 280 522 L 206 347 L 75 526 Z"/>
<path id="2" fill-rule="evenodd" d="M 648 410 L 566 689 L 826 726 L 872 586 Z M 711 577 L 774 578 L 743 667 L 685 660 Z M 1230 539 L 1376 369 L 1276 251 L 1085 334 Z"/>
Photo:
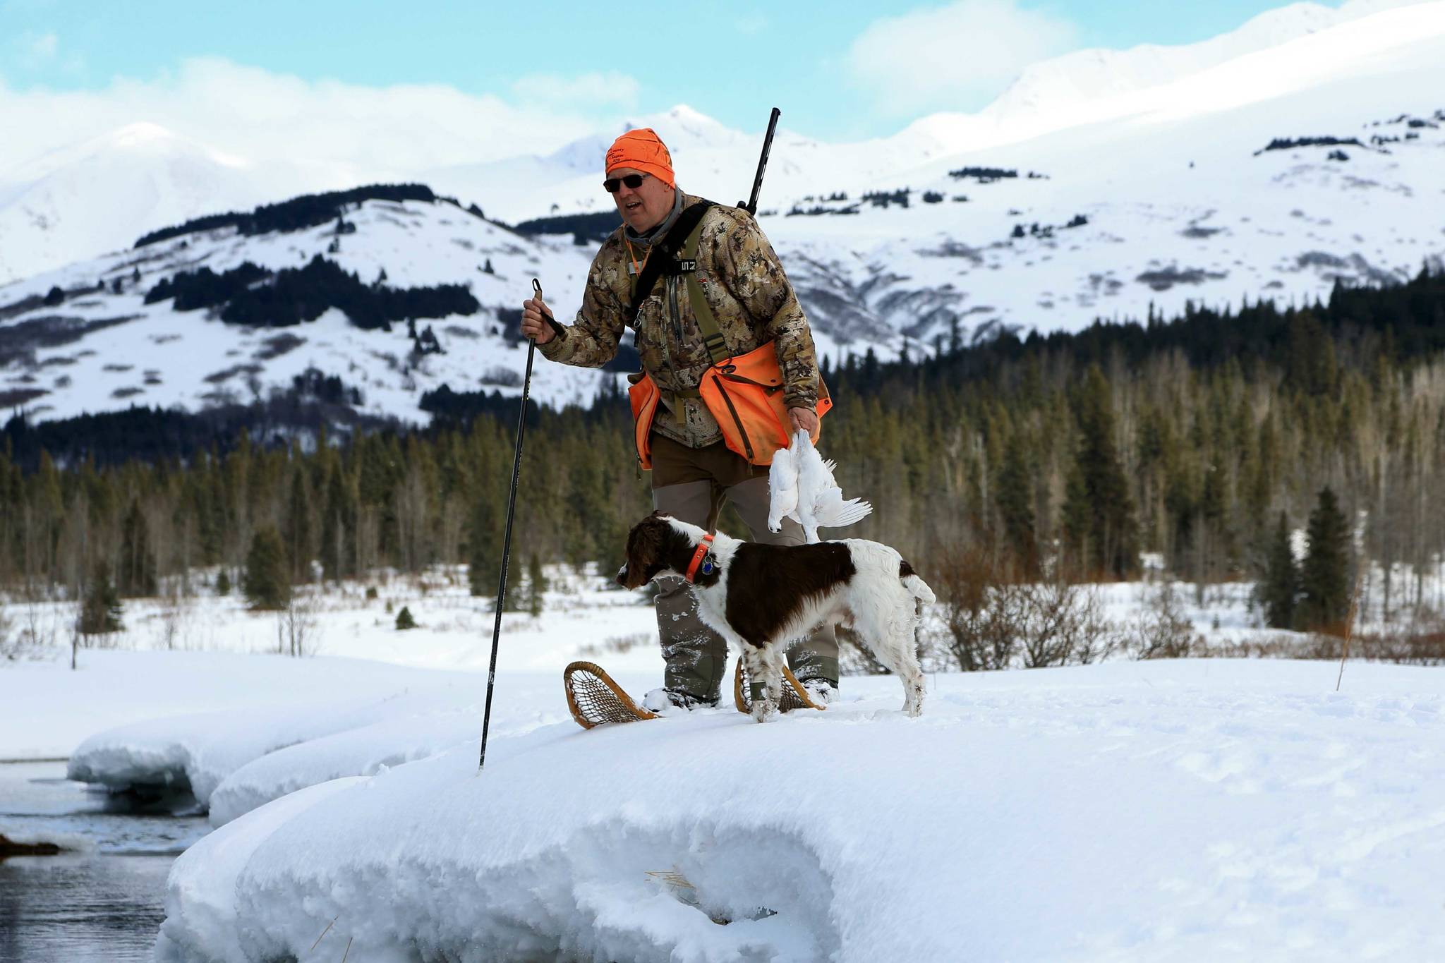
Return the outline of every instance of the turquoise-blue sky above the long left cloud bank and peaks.
<path id="1" fill-rule="evenodd" d="M 777 104 L 789 128 L 845 140 L 977 110 L 1033 59 L 1202 40 L 1274 6 L 0 0 L 0 84 L 98 94 L 173 84 L 186 61 L 215 58 L 308 82 L 442 85 L 597 124 L 685 103 L 756 130 Z M 939 30 L 957 56 L 909 56 L 920 32 L 938 51 Z"/>

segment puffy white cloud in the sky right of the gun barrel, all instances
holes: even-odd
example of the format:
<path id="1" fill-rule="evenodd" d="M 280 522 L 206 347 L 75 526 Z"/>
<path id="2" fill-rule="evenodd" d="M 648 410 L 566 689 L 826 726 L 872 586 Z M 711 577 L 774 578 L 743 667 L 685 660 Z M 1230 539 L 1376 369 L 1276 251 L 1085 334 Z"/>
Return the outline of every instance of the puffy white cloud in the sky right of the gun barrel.
<path id="1" fill-rule="evenodd" d="M 879 113 L 975 110 L 1036 61 L 1079 46 L 1074 23 L 1013 0 L 959 0 L 871 23 L 848 51 Z"/>

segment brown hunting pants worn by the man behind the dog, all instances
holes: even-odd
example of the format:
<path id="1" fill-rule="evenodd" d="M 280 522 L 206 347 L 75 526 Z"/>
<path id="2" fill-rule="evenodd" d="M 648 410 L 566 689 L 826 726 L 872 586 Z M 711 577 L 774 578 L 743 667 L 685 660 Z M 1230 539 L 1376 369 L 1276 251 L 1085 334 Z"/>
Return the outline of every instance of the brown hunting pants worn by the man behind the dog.
<path id="1" fill-rule="evenodd" d="M 733 502 L 753 541 L 803 544 L 802 527 L 792 518 L 783 520 L 782 531 L 767 528 L 767 468 L 750 465 L 722 442 L 688 448 L 652 435 L 653 508 L 712 531 L 727 502 Z M 692 586 L 679 576 L 657 579 L 657 637 L 666 663 L 663 684 L 694 699 L 717 702 L 727 670 L 727 642 L 698 618 Z M 788 664 L 799 681 L 821 677 L 838 684 L 838 640 L 832 625 L 789 645 Z"/>

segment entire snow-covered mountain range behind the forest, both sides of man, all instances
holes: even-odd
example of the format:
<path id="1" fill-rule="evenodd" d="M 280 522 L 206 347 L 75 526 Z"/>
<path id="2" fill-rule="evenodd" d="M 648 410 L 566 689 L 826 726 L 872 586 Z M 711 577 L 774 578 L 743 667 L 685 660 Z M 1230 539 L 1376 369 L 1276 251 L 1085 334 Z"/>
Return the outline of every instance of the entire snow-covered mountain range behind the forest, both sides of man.
<path id="1" fill-rule="evenodd" d="M 828 355 L 890 355 L 905 336 L 928 345 L 955 325 L 972 338 L 1143 318 L 1150 305 L 1172 315 L 1186 300 L 1299 303 L 1335 280 L 1402 280 L 1445 257 L 1441 91 L 1445 3 L 1295 4 L 1199 45 L 1058 58 L 980 114 L 933 116 L 890 139 L 827 144 L 782 130 L 760 221 Z M 746 193 L 759 137 L 686 107 L 636 124 L 669 143 L 685 189 L 722 202 Z M 77 237 L 118 248 L 162 224 L 288 196 L 246 199 L 257 180 L 244 162 L 155 127 L 127 131 L 6 175 L 30 180 L 0 188 L 0 251 L 49 257 L 77 250 Z M 603 212 L 595 165 L 610 137 L 416 179 L 507 221 Z M 85 170 L 101 172 L 103 195 L 81 189 Z M 123 191 L 105 180 L 117 170 Z M 146 183 L 149 193 L 134 186 Z M 45 231 L 16 214 L 40 209 L 38 198 L 52 205 Z M 264 397 L 314 368 L 360 388 L 367 410 L 423 419 L 416 400 L 441 384 L 514 391 L 525 351 L 501 335 L 507 312 L 538 276 L 566 321 L 592 254 L 571 235 L 523 237 L 447 202 L 368 201 L 345 218 L 357 230 L 340 240 L 332 225 L 225 228 L 0 286 L 0 403 L 42 419 L 194 409 Z M 124 224 L 134 227 L 121 235 Z M 364 282 L 384 271 L 396 287 L 465 283 L 481 308 L 426 322 L 447 354 L 413 357 L 403 329 L 363 331 L 334 309 L 249 329 L 143 303 L 178 270 L 275 271 L 318 254 Z M 53 287 L 71 292 L 59 306 L 43 303 Z M 613 375 L 539 361 L 533 391 L 585 400 L 600 377 Z"/>

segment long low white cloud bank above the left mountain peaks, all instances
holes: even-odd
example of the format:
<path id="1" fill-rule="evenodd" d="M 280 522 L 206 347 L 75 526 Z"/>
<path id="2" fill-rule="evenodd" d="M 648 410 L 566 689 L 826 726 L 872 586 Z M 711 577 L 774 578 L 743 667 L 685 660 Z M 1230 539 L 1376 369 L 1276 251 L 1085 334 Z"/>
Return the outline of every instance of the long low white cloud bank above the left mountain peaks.
<path id="1" fill-rule="evenodd" d="M 623 91 L 636 98 L 636 81 L 605 81 L 608 97 Z M 598 107 L 617 103 L 603 97 L 598 79 L 571 87 L 539 81 L 523 90 L 553 98 L 538 105 L 445 85 L 306 81 L 217 58 L 188 59 L 155 81 L 116 78 L 100 91 L 17 91 L 0 78 L 7 134 L 0 137 L 0 180 L 30 157 L 136 121 L 259 165 L 371 179 L 548 153 L 616 120 L 598 117 Z"/>

